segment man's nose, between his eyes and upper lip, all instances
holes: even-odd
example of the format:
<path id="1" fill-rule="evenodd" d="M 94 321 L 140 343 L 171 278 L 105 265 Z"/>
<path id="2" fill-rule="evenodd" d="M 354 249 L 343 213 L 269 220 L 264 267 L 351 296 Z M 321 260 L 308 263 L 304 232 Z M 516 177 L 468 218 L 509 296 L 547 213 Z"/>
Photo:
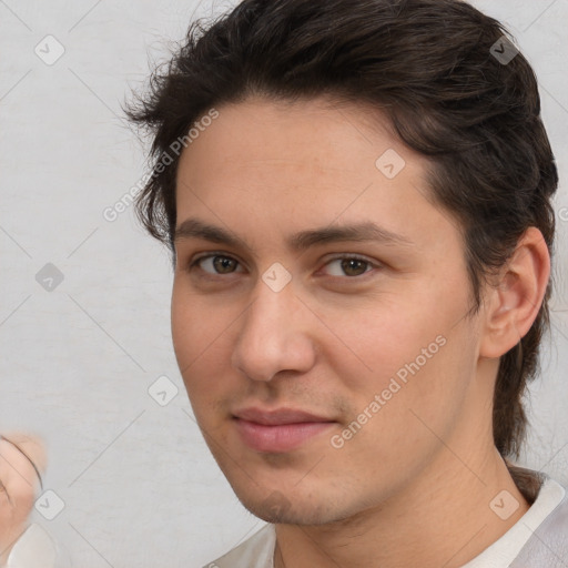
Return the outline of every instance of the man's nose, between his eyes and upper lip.
<path id="1" fill-rule="evenodd" d="M 242 316 L 233 366 L 253 381 L 267 382 L 281 372 L 306 373 L 316 359 L 310 316 L 292 284 L 274 292 L 258 281 Z"/>

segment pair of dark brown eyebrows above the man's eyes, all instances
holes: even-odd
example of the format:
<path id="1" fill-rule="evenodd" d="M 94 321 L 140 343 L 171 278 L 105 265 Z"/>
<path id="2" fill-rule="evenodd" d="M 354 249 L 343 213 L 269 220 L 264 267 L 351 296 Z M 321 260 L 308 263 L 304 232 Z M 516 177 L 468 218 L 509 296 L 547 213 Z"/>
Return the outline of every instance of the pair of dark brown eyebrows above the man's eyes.
<path id="1" fill-rule="evenodd" d="M 183 221 L 174 231 L 173 242 L 189 239 L 203 239 L 213 243 L 224 244 L 233 247 L 241 247 L 248 252 L 251 246 L 241 237 L 223 229 L 190 217 Z M 413 246 L 415 243 L 408 237 L 393 233 L 386 229 L 376 225 L 373 222 L 364 222 L 351 225 L 325 226 L 301 231 L 286 239 L 287 246 L 293 251 L 305 251 L 311 246 L 337 242 L 378 242 L 385 245 Z"/>

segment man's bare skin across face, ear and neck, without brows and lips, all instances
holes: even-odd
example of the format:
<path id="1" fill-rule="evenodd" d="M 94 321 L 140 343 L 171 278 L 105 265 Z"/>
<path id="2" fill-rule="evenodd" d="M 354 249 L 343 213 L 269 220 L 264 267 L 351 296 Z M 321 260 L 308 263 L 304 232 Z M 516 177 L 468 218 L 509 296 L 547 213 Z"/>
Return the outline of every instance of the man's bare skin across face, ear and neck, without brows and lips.
<path id="1" fill-rule="evenodd" d="M 181 156 L 178 226 L 197 219 L 248 247 L 181 234 L 172 295 L 178 363 L 213 456 L 243 505 L 276 524 L 276 568 L 462 566 L 528 509 L 494 447 L 491 396 L 545 293 L 541 234 L 527 231 L 468 317 L 459 225 L 428 197 L 427 160 L 377 112 L 322 98 L 217 110 Z M 375 166 L 387 149 L 406 162 L 392 180 Z M 410 244 L 286 244 L 369 221 Z M 223 258 L 194 263 L 206 254 Z M 367 264 L 345 270 L 337 255 Z M 280 292 L 262 280 L 274 262 L 292 276 Z M 437 336 L 445 345 L 334 448 Z M 250 406 L 335 424 L 291 452 L 258 452 L 233 419 Z M 489 507 L 501 490 L 518 503 L 506 520 Z"/>

